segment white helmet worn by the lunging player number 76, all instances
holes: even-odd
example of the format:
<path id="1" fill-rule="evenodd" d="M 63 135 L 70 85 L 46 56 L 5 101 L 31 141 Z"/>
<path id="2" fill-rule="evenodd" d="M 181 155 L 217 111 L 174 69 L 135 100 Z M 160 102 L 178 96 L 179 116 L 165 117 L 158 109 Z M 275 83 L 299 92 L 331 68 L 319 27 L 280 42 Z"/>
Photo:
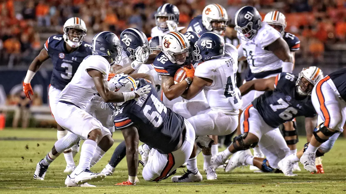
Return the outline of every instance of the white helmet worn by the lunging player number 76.
<path id="1" fill-rule="evenodd" d="M 310 84 L 315 86 L 319 80 L 323 78 L 323 72 L 320 68 L 316 66 L 310 66 L 307 68 L 303 68 L 302 71 L 300 71 L 298 75 L 298 79 L 295 82 L 295 86 L 297 86 L 297 92 L 299 95 L 302 96 L 308 96 L 312 92 L 312 88 L 309 89 L 307 86 L 305 86 L 305 89 L 302 89 L 302 86 L 304 86 L 304 83 L 302 83 L 302 78 L 305 78 L 306 80 L 309 81 Z"/>

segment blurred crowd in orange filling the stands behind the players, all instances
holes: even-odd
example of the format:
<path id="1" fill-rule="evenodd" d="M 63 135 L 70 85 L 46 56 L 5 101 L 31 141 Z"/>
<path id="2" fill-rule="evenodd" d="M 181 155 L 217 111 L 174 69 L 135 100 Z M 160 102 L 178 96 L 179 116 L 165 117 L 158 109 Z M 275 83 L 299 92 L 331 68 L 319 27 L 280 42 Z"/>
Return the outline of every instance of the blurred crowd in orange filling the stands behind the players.
<path id="1" fill-rule="evenodd" d="M 135 27 L 149 37 L 155 11 L 164 2 L 179 8 L 179 26 L 187 26 L 206 6 L 205 0 L 0 0 L 0 66 L 29 65 L 49 37 L 44 34 L 62 33 L 64 22 L 73 16 L 85 21 L 90 36 L 106 30 L 120 35 L 122 30 Z M 230 19 L 245 5 L 256 7 L 262 18 L 271 10 L 283 12 L 286 31 L 301 40 L 297 58 L 303 62 L 323 62 L 326 50 L 346 50 L 345 0 L 221 2 Z"/>

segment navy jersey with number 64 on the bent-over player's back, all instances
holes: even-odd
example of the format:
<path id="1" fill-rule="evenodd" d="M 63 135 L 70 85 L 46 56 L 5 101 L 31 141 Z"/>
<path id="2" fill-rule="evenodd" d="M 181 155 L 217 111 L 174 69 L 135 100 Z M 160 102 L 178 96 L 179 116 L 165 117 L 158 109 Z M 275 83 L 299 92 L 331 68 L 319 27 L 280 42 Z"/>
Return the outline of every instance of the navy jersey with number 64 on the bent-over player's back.
<path id="1" fill-rule="evenodd" d="M 145 79 L 136 80 L 138 86 L 148 84 Z M 173 152 L 179 144 L 184 129 L 184 118 L 165 107 L 157 99 L 155 87 L 149 94 L 137 100 L 125 102 L 115 113 L 114 123 L 117 129 L 135 126 L 139 140 L 156 149 L 161 154 Z"/>

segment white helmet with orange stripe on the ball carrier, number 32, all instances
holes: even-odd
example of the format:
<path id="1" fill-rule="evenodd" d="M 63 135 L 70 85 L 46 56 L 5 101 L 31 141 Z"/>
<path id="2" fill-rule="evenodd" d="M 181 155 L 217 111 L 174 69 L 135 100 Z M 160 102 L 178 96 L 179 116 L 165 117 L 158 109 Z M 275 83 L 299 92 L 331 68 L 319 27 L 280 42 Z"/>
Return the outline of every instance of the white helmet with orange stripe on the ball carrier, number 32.
<path id="1" fill-rule="evenodd" d="M 172 31 L 162 38 L 162 51 L 166 57 L 177 65 L 191 63 L 189 40 L 180 32 Z"/>

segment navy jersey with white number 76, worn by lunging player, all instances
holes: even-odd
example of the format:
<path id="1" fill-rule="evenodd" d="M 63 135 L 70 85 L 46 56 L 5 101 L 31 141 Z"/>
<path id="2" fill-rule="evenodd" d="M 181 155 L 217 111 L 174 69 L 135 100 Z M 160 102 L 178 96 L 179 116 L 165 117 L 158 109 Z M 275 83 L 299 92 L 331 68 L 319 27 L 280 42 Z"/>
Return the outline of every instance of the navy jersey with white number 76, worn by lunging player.
<path id="1" fill-rule="evenodd" d="M 316 115 L 311 96 L 299 99 L 301 96 L 297 94 L 295 88 L 297 79 L 297 76 L 290 73 L 283 72 L 277 75 L 275 89 L 266 91 L 252 102 L 269 126 L 276 128 L 298 116 Z"/>

